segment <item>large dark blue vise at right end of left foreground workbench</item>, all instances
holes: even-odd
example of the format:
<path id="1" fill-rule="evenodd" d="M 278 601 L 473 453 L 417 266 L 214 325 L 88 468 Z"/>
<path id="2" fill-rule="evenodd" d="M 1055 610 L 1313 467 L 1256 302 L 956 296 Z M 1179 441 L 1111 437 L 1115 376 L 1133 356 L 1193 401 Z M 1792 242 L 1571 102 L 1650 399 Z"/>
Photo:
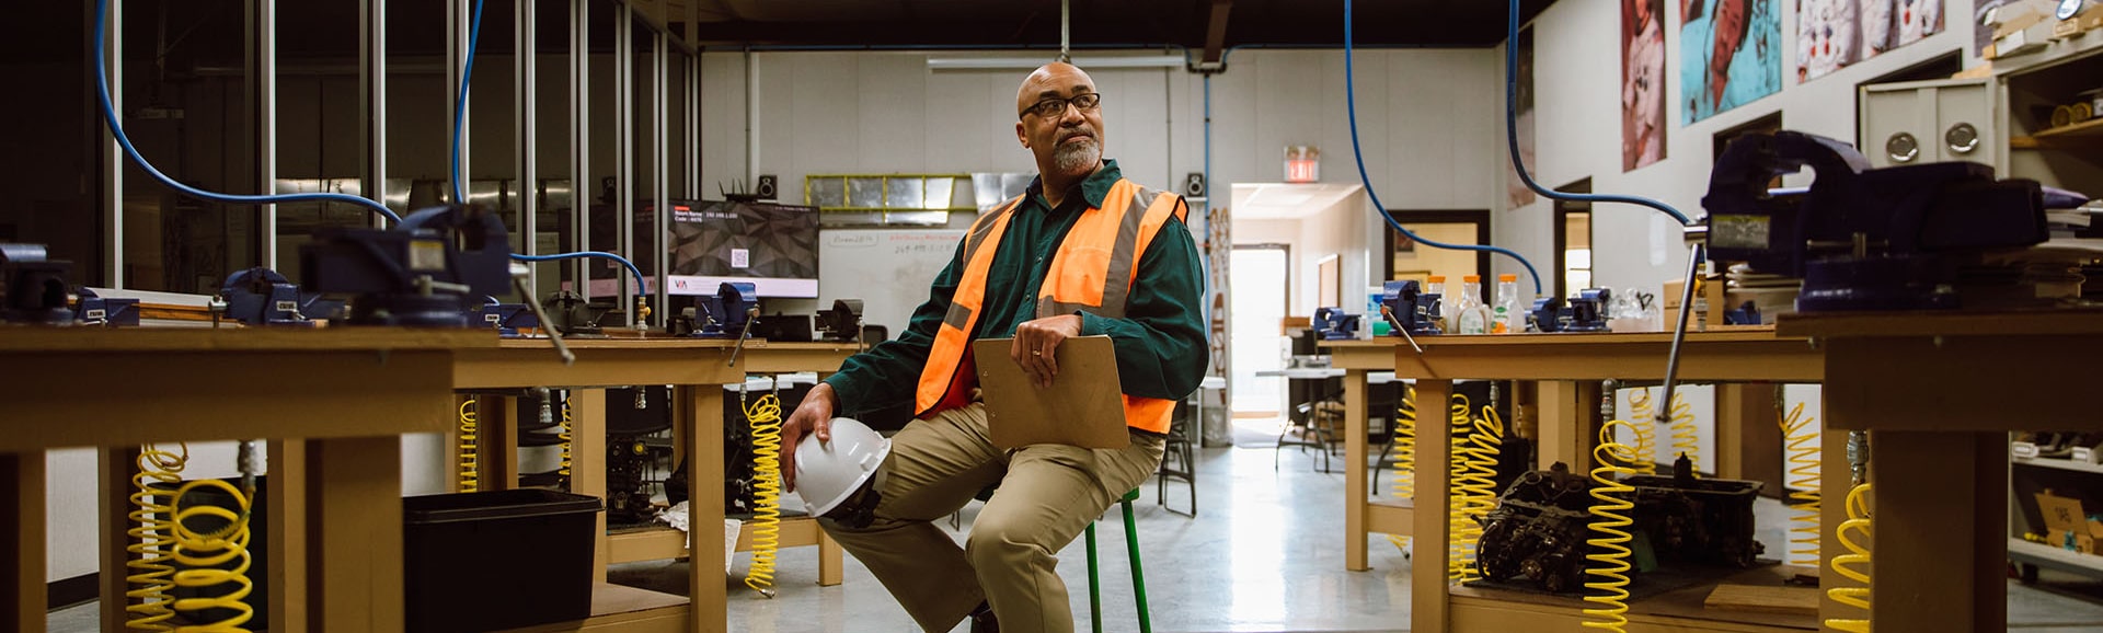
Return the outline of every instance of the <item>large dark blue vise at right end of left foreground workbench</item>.
<path id="1" fill-rule="evenodd" d="M 299 248 L 301 286 L 353 294 L 351 324 L 467 328 L 482 297 L 511 290 L 511 238 L 496 212 L 435 206 L 393 229 L 332 227 Z"/>

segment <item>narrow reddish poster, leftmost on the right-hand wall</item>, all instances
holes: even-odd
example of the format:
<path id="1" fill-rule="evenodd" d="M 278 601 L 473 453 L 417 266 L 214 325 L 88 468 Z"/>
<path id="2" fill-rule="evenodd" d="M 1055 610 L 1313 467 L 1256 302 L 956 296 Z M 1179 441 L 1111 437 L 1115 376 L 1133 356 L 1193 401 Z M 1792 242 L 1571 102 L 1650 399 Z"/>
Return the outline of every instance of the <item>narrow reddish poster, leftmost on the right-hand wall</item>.
<path id="1" fill-rule="evenodd" d="M 1621 170 L 1666 160 L 1666 0 L 1621 0 Z"/>

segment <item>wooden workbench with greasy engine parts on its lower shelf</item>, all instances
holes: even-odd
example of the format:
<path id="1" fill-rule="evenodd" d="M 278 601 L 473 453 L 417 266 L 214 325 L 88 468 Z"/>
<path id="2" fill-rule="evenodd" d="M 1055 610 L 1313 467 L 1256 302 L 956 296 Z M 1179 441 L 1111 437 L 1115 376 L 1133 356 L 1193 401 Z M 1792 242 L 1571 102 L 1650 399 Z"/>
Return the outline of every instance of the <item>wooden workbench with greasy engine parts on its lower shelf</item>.
<path id="1" fill-rule="evenodd" d="M 1451 454 L 1449 425 L 1424 425 L 1415 429 L 1415 461 L 1420 465 L 1441 465 L 1436 469 L 1415 469 L 1415 501 L 1371 498 L 1367 477 L 1367 429 L 1365 429 L 1365 374 L 1371 370 L 1394 370 L 1396 379 L 1413 379 L 1417 402 L 1441 406 L 1422 408 L 1430 418 L 1445 421 L 1447 395 L 1453 393 L 1455 379 L 1487 381 L 1533 381 L 1539 383 L 1539 406 L 1535 408 L 1539 461 L 1569 463 L 1573 471 L 1590 467 L 1592 444 L 1596 442 L 1600 381 L 1661 381 L 1672 336 L 1647 334 L 1499 334 L 1499 336 L 1420 336 L 1424 353 L 1401 339 L 1380 341 L 1335 341 L 1329 347 L 1331 366 L 1346 368 L 1344 376 L 1344 446 L 1348 475 L 1344 484 L 1344 566 L 1365 570 L 1367 532 L 1413 536 L 1420 543 L 1438 547 L 1415 547 L 1411 559 L 1411 631 L 1558 631 L 1556 627 L 1577 627 L 1579 608 L 1535 606 L 1512 610 L 1497 618 L 1464 616 L 1470 612 L 1495 610 L 1508 595 L 1502 591 L 1466 591 L 1451 595 L 1447 583 L 1447 469 Z M 1819 383 L 1825 366 L 1817 349 L 1804 339 L 1783 339 L 1771 328 L 1727 328 L 1712 332 L 1691 332 L 1680 351 L 1680 381 L 1703 383 Z M 1743 425 L 1743 408 L 1731 406 L 1741 400 L 1741 391 L 1718 393 L 1718 442 L 1735 442 L 1733 425 Z M 1838 448 L 1840 444 L 1828 442 Z M 1737 446 L 1718 446 L 1720 456 L 1735 456 Z M 1720 458 L 1729 463 L 1731 458 Z M 1735 475 L 1724 469 L 1724 475 Z M 1417 513 L 1415 507 L 1441 511 Z M 1499 597 L 1502 595 L 1502 597 Z M 1640 610 L 1632 604 L 1634 610 Z M 1449 616 L 1451 614 L 1451 616 Z M 1661 627 L 1687 627 L 1685 618 L 1659 620 Z M 1516 629 L 1512 629 L 1516 627 Z M 1638 627 L 1640 629 L 1640 627 Z M 1634 629 L 1632 629 L 1634 631 Z M 1674 629 L 1706 631 L 1706 629 Z M 1729 625 L 1714 631 L 1767 631 L 1762 627 Z"/>

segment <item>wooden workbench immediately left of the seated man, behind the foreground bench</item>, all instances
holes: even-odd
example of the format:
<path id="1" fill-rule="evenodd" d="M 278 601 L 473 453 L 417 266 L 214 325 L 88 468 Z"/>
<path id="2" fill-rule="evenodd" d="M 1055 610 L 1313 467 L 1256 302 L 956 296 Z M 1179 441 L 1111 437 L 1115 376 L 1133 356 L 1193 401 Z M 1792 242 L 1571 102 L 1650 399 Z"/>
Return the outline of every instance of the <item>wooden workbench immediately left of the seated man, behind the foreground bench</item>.
<path id="1" fill-rule="evenodd" d="M 721 339 L 568 339 L 576 353 L 576 364 L 564 366 L 545 339 L 505 339 L 494 349 L 461 353 L 452 372 L 454 389 L 519 389 L 519 387 L 568 387 L 572 391 L 572 490 L 578 494 L 606 494 L 606 387 L 629 385 L 673 385 L 673 435 L 675 452 L 688 461 L 688 528 L 692 543 L 723 543 L 723 387 L 740 385 L 744 374 L 784 372 L 833 372 L 858 351 L 854 343 L 768 343 L 747 341 L 730 366 L 734 341 Z M 789 412 L 782 410 L 787 416 Z M 454 416 L 446 416 L 448 421 Z M 482 425 L 477 446 L 488 446 L 488 458 L 479 458 L 479 479 L 484 488 L 507 486 L 517 479 L 515 454 L 505 450 L 515 437 L 515 414 L 484 416 L 503 421 Z M 448 444 L 450 446 L 450 444 Z M 454 458 L 454 452 L 446 452 Z M 456 473 L 456 465 L 448 465 Z M 662 530 L 627 530 L 606 534 L 606 517 L 599 515 L 597 555 L 593 557 L 593 583 L 606 583 L 606 566 L 622 561 L 665 559 L 690 555 L 692 604 L 635 601 L 635 599 L 593 599 L 593 618 L 574 622 L 572 629 L 551 631 L 660 631 L 675 614 L 690 614 L 688 631 L 723 631 L 728 627 L 726 593 L 709 591 L 721 587 L 723 549 L 700 547 L 688 551 L 688 534 Z M 742 538 L 740 538 L 742 540 Z M 816 519 L 784 519 L 782 547 L 818 545 L 818 583 L 839 585 L 843 555 L 837 543 L 818 530 Z M 597 585 L 604 587 L 610 585 Z M 650 608 L 637 616 L 637 604 Z M 543 631 L 543 629 L 534 629 Z"/>

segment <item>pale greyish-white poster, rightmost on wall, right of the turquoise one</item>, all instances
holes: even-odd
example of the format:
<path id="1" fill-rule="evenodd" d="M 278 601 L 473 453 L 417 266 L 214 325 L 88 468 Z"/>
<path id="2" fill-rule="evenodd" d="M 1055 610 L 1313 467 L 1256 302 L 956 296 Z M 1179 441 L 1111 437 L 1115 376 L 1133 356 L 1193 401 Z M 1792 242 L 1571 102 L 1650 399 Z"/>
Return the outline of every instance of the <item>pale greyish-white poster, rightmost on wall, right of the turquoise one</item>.
<path id="1" fill-rule="evenodd" d="M 1943 0 L 1796 0 L 1796 80 L 1943 32 Z"/>

